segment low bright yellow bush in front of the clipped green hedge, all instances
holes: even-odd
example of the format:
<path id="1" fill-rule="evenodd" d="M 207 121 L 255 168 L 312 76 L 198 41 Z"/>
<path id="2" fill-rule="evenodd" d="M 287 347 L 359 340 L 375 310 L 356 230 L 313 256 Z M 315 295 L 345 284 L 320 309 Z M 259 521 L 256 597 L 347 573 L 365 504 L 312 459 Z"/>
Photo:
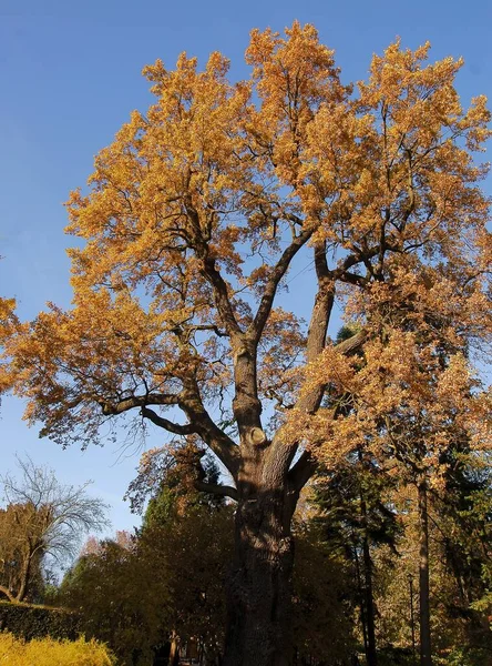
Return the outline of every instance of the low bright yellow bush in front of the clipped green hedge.
<path id="1" fill-rule="evenodd" d="M 95 640 L 34 638 L 25 643 L 0 633 L 0 666 L 115 666 L 105 645 Z"/>

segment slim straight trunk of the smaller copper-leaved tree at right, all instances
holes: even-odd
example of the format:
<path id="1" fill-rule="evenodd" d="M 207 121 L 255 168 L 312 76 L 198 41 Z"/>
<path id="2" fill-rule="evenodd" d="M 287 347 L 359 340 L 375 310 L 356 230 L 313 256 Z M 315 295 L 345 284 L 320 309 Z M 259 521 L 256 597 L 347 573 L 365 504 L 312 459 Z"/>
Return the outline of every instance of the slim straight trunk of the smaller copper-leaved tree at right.
<path id="1" fill-rule="evenodd" d="M 430 605 L 429 605 L 429 518 L 427 509 L 427 481 L 420 480 L 419 493 L 419 596 L 420 596 L 420 664 L 432 666 Z"/>

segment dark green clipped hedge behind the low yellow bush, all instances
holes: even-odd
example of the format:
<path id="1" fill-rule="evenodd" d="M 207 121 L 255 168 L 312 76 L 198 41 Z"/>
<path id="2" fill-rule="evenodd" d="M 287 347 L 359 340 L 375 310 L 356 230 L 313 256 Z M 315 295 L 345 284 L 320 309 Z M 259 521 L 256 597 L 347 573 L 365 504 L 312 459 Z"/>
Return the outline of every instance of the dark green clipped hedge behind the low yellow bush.
<path id="1" fill-rule="evenodd" d="M 0 629 L 24 640 L 44 636 L 74 640 L 79 627 L 79 616 L 64 608 L 0 602 Z"/>

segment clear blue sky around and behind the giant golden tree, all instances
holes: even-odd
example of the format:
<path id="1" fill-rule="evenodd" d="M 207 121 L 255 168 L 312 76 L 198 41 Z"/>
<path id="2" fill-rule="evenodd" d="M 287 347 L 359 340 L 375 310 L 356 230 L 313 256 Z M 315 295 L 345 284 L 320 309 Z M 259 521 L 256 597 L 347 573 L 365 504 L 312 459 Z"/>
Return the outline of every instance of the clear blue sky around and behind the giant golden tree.
<path id="1" fill-rule="evenodd" d="M 130 111 L 146 109 L 142 67 L 156 58 L 172 67 L 184 50 L 203 62 L 221 50 L 239 79 L 249 30 L 283 30 L 296 18 L 336 49 L 345 82 L 365 78 L 371 54 L 400 36 L 411 48 L 430 40 L 432 59 L 463 56 L 464 102 L 492 98 L 491 0 L 0 0 L 0 294 L 18 299 L 23 319 L 48 300 L 70 303 L 71 239 L 61 204 L 85 183 L 93 155 Z M 16 452 L 28 452 L 61 481 L 94 480 L 93 493 L 112 505 L 114 528 L 137 522 L 122 502 L 137 452 L 111 444 L 61 451 L 38 440 L 21 414 L 19 401 L 3 401 L 0 473 L 13 468 Z"/>

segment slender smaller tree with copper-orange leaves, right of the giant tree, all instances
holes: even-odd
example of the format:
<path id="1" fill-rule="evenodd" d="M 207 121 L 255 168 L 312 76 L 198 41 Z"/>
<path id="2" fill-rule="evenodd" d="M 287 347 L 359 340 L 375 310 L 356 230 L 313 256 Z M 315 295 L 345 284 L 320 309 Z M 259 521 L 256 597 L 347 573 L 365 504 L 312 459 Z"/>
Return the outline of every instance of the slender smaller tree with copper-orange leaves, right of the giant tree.
<path id="1" fill-rule="evenodd" d="M 440 488 L 444 494 L 465 448 L 486 456 L 491 438 L 490 396 L 465 356 L 473 317 L 467 320 L 463 293 L 453 297 L 439 270 L 424 275 L 429 282 L 420 291 L 419 278 L 408 275 L 401 290 L 397 281 L 391 293 L 388 285 L 373 290 L 363 306 L 367 329 L 373 326 L 372 340 L 363 345 L 365 365 L 340 360 L 318 381 L 329 379 L 339 395 L 350 396 L 350 408 L 331 424 L 331 446 L 349 435 L 417 491 L 421 664 L 430 666 L 430 494 Z M 428 294 L 444 289 L 445 319 Z"/>

